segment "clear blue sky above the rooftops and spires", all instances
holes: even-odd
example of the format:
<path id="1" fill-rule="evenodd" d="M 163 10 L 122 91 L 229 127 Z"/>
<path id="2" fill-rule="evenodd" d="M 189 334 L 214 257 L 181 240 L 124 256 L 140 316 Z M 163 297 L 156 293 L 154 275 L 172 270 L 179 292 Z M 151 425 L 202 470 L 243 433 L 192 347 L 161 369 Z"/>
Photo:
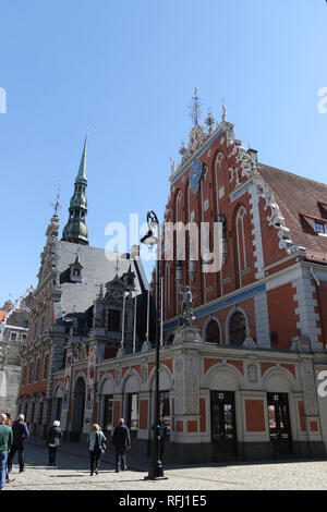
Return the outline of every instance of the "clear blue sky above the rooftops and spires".
<path id="1" fill-rule="evenodd" d="M 3 0 L 0 307 L 36 284 L 61 180 L 61 230 L 87 148 L 90 244 L 162 217 L 198 87 L 262 162 L 326 183 L 325 0 Z M 148 267 L 147 267 L 148 268 Z"/>

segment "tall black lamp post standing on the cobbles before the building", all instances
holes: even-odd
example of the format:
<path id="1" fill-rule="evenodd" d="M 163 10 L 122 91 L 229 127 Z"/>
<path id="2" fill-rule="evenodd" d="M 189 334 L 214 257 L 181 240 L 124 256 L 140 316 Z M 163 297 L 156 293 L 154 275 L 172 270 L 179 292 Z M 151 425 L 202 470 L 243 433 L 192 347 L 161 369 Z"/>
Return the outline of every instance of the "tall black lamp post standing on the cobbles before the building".
<path id="1" fill-rule="evenodd" d="M 162 461 L 160 460 L 159 453 L 159 409 L 160 409 L 160 397 L 159 397 L 159 368 L 160 368 L 160 340 L 159 340 L 159 300 L 160 300 L 160 276 L 159 276 L 159 260 L 160 260 L 160 249 L 161 249 L 161 235 L 160 235 L 160 225 L 156 214 L 153 210 L 147 212 L 147 224 L 148 232 L 145 236 L 141 239 L 141 242 L 147 246 L 153 247 L 157 245 L 157 310 L 156 310 L 156 394 L 155 394 L 155 427 L 154 427 L 154 443 L 153 443 L 153 458 L 148 471 L 148 476 L 145 479 L 149 480 L 161 480 L 167 479 L 164 476 L 164 466 Z M 157 229 L 157 236 L 152 231 L 152 228 Z"/>

